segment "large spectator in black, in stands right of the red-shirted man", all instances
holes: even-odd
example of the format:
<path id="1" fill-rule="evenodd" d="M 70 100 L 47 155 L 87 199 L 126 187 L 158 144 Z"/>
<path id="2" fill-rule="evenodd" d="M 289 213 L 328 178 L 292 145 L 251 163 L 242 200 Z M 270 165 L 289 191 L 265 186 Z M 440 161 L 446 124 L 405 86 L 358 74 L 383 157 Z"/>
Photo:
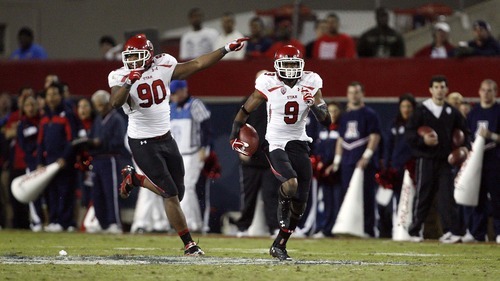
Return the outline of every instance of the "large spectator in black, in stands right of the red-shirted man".
<path id="1" fill-rule="evenodd" d="M 375 10 L 377 25 L 363 33 L 358 41 L 359 57 L 404 57 L 403 36 L 389 27 L 389 11 L 379 7 Z"/>

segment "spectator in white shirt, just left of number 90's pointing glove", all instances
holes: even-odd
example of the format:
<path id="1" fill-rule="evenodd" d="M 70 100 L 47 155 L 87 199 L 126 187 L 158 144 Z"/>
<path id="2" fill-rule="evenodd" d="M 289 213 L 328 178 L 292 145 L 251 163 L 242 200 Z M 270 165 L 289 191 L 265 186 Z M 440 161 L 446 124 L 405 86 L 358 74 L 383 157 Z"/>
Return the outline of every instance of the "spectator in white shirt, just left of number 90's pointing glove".
<path id="1" fill-rule="evenodd" d="M 219 32 L 213 28 L 203 27 L 204 17 L 205 15 L 200 8 L 189 10 L 188 19 L 192 30 L 181 36 L 180 60 L 194 59 L 215 49 L 215 40 L 219 36 Z"/>

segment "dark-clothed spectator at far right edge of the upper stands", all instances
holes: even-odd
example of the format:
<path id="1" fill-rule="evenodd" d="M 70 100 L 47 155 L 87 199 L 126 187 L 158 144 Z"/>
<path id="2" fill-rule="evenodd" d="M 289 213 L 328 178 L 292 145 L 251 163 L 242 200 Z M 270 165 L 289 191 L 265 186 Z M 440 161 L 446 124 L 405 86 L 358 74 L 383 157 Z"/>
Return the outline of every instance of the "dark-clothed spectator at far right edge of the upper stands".
<path id="1" fill-rule="evenodd" d="M 500 55 L 500 43 L 491 35 L 491 26 L 484 20 L 472 24 L 474 38 L 469 42 L 459 42 L 455 49 L 457 57 L 481 56 L 493 57 Z"/>

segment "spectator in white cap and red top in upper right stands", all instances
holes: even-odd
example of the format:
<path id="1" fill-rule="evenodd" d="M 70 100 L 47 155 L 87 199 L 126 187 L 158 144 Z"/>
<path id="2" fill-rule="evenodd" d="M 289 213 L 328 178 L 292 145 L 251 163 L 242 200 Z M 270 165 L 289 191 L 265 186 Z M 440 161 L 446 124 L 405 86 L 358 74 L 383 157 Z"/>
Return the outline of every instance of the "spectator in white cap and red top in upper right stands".
<path id="1" fill-rule="evenodd" d="M 432 30 L 432 43 L 422 47 L 415 58 L 449 58 L 453 56 L 455 46 L 450 43 L 450 26 L 445 22 L 436 23 Z"/>

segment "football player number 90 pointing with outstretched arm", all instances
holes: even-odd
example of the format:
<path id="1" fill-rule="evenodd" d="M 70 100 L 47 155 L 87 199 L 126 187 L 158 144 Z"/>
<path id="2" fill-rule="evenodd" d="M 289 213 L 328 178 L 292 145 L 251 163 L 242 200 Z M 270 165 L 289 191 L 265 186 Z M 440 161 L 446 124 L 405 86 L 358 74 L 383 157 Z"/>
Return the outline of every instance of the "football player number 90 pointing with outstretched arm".
<path id="1" fill-rule="evenodd" d="M 161 195 L 170 224 L 184 243 L 184 254 L 201 256 L 204 252 L 191 238 L 180 201 L 184 196 L 184 165 L 170 132 L 170 81 L 186 79 L 212 66 L 224 55 L 238 51 L 248 38 L 234 40 L 224 47 L 185 63 L 168 54 L 154 56 L 153 44 L 144 34 L 131 37 L 122 52 L 123 67 L 108 76 L 111 104 L 123 107 L 128 115 L 128 141 L 137 166 L 122 170 L 120 195 L 128 197 L 134 187 L 142 186 Z"/>

